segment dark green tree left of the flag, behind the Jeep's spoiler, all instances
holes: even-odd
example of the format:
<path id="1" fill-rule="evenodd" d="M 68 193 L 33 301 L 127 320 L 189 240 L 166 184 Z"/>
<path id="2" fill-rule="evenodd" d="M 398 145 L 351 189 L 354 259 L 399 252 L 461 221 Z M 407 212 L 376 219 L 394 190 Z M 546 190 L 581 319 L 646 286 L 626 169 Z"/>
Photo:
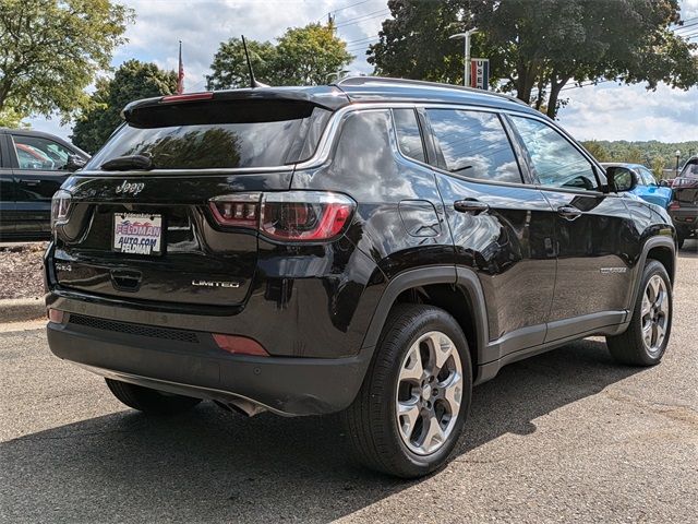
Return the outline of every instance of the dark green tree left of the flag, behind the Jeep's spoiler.
<path id="1" fill-rule="evenodd" d="M 113 79 L 98 79 L 89 108 L 81 114 L 71 140 L 89 153 L 96 152 L 122 122 L 121 110 L 139 98 L 171 95 L 177 90 L 177 73 L 139 60 L 123 62 Z"/>

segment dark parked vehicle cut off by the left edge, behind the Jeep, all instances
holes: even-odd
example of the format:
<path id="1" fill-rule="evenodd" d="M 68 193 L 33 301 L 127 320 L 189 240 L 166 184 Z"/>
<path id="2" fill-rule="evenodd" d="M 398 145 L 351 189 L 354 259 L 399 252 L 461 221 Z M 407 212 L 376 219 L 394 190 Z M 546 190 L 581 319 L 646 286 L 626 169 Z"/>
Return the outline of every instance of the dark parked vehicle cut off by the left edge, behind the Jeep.
<path id="1" fill-rule="evenodd" d="M 51 196 L 88 159 L 52 134 L 0 128 L 0 241 L 48 239 Z"/>

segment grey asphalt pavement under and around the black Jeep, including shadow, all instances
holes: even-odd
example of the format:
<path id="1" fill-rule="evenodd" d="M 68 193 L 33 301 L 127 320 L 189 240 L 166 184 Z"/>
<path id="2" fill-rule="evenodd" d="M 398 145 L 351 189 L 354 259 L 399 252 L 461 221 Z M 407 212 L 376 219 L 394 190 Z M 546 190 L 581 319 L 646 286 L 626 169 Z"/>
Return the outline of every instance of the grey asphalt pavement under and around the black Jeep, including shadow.
<path id="1" fill-rule="evenodd" d="M 246 419 L 210 403 L 145 417 L 55 358 L 41 324 L 0 330 L 0 521 L 696 522 L 687 247 L 660 366 L 615 365 L 597 338 L 508 366 L 476 389 L 453 462 L 419 481 L 351 465 L 332 417 Z"/>

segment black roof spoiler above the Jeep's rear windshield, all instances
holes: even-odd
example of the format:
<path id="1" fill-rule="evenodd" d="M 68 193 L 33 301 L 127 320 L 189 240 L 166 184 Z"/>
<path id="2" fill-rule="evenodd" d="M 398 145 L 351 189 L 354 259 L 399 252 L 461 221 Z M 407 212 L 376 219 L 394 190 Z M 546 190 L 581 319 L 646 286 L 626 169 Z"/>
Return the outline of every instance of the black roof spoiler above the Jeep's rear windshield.
<path id="1" fill-rule="evenodd" d="M 291 120 L 314 108 L 335 111 L 349 98 L 337 87 L 257 87 L 159 96 L 129 104 L 121 117 L 136 128 Z"/>

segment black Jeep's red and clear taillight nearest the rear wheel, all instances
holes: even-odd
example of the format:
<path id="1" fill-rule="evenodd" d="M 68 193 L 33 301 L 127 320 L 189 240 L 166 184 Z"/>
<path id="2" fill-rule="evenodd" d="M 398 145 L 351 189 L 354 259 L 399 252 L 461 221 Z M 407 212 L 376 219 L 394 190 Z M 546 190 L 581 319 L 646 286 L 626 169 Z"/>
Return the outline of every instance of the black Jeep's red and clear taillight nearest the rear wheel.
<path id="1" fill-rule="evenodd" d="M 321 191 L 238 193 L 209 202 L 221 226 L 246 227 L 281 241 L 317 242 L 341 235 L 356 203 L 349 196 Z"/>

